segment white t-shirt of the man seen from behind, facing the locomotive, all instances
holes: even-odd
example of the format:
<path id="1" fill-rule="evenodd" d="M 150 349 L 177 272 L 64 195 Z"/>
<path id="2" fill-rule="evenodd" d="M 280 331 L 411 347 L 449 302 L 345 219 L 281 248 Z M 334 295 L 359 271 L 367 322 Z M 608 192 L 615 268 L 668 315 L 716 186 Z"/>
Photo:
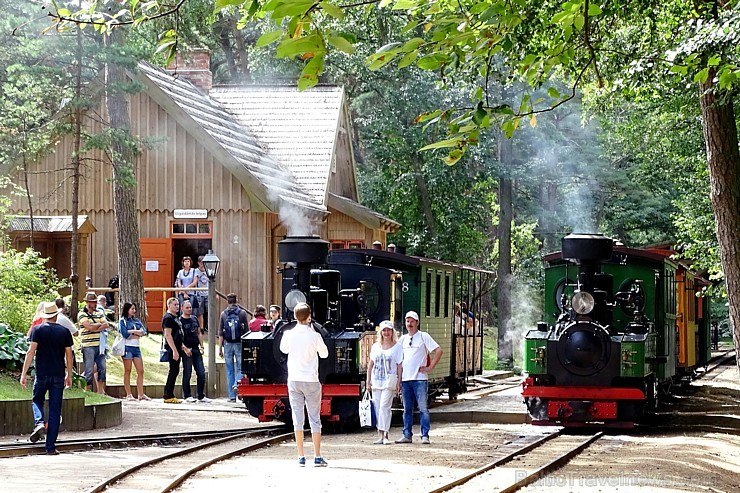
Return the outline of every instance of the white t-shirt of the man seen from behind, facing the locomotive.
<path id="1" fill-rule="evenodd" d="M 318 382 L 319 358 L 329 356 L 321 334 L 302 324 L 283 334 L 280 351 L 288 355 L 288 382 Z"/>

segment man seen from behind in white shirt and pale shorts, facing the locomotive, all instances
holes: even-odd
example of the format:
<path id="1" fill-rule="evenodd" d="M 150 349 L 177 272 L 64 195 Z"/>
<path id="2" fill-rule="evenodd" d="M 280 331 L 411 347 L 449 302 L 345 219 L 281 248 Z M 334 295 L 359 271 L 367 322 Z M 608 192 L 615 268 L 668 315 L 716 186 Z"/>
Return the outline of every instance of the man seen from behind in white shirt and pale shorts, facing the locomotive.
<path id="1" fill-rule="evenodd" d="M 293 414 L 293 430 L 298 447 L 298 465 L 306 465 L 303 454 L 303 407 L 308 411 L 314 466 L 326 466 L 321 457 L 321 382 L 319 358 L 329 356 L 329 350 L 311 324 L 311 307 L 299 303 L 293 309 L 298 324 L 283 333 L 280 351 L 288 355 L 288 398 Z"/>

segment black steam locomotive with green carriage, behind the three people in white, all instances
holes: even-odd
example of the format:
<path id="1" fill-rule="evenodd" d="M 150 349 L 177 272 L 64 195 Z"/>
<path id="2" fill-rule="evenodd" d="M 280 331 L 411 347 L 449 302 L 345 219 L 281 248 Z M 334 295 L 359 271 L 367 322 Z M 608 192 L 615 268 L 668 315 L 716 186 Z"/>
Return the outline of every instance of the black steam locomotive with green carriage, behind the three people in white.
<path id="1" fill-rule="evenodd" d="M 290 421 L 287 357 L 280 341 L 295 326 L 293 308 L 311 306 L 314 328 L 329 349 L 319 360 L 322 419 L 352 422 L 364 391 L 366 365 L 375 329 L 391 320 L 403 333 L 403 314 L 422 315 L 421 329 L 443 348 L 443 360 L 430 385 L 451 395 L 465 387 L 468 375 L 482 372 L 482 334 L 455 330 L 454 299 L 475 307 L 478 286 L 487 273 L 478 269 L 411 257 L 395 251 L 341 249 L 317 237 L 288 237 L 278 243 L 283 264 L 282 321 L 270 332 L 242 338 L 242 372 L 237 395 L 260 421 Z M 447 363 L 447 364 L 445 364 Z"/>

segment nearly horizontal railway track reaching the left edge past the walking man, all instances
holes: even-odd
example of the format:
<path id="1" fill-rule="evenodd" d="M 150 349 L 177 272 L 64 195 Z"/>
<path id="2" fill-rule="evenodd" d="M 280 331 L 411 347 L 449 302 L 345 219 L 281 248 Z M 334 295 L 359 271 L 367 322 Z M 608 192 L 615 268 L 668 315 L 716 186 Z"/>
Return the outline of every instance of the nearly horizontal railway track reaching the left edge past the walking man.
<path id="1" fill-rule="evenodd" d="M 270 425 L 229 430 L 189 431 L 182 433 L 159 433 L 150 435 L 127 435 L 121 437 L 86 438 L 77 440 L 58 440 L 57 450 L 61 452 L 80 452 L 113 448 L 138 447 L 145 445 L 171 445 L 184 441 L 204 440 L 209 438 L 233 437 L 250 432 L 282 430 L 283 427 Z M 0 458 L 20 457 L 24 455 L 43 455 L 46 453 L 44 441 L 35 444 L 0 444 Z"/>

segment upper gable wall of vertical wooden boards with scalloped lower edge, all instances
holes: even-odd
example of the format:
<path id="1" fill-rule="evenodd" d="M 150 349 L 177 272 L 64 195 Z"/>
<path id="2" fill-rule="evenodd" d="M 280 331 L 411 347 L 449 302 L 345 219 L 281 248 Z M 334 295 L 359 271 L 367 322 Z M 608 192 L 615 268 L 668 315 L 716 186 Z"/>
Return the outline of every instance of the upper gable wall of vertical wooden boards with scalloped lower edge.
<path id="1" fill-rule="evenodd" d="M 137 200 L 142 211 L 250 209 L 246 190 L 185 129 L 149 96 L 131 98 L 131 130 L 143 138 L 158 139 L 154 149 L 137 158 Z M 100 125 L 86 120 L 90 132 Z M 36 214 L 70 214 L 72 206 L 69 172 L 72 140 L 64 138 L 54 153 L 33 167 L 29 188 Z M 80 187 L 80 214 L 113 210 L 112 169 L 100 152 L 85 156 Z M 21 180 L 17 180 L 21 183 Z M 12 209 L 28 213 L 24 197 L 14 197 Z"/>

